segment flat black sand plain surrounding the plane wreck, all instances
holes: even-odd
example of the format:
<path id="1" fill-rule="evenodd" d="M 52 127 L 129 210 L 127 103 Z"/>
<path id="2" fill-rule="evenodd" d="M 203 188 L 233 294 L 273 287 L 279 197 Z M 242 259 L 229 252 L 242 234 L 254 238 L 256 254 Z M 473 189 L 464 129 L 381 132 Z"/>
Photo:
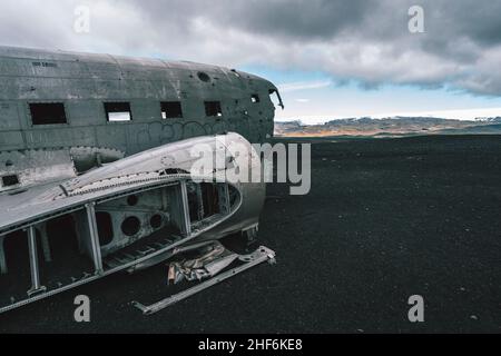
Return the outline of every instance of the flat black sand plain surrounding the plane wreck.
<path id="1" fill-rule="evenodd" d="M 501 137 L 317 140 L 312 191 L 271 185 L 262 244 L 278 264 L 145 317 L 165 266 L 0 315 L 0 332 L 501 332 Z M 91 323 L 72 319 L 91 298 Z M 422 295 L 425 322 L 407 320 Z"/>

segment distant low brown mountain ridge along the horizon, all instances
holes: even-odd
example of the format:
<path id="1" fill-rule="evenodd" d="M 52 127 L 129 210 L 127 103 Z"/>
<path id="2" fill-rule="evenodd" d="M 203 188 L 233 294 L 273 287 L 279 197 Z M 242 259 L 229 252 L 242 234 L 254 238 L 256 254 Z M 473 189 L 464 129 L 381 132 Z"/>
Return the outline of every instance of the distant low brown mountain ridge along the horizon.
<path id="1" fill-rule="evenodd" d="M 275 122 L 275 135 L 285 137 L 501 134 L 501 117 L 454 120 L 433 117 L 370 117 L 304 125 L 301 120 Z"/>

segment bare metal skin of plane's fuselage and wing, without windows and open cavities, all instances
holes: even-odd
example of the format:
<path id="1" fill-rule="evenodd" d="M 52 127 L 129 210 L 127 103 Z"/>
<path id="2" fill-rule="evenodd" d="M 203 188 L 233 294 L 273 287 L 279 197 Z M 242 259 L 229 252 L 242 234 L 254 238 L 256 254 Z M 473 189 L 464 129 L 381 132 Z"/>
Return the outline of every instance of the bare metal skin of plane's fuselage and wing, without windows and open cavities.
<path id="1" fill-rule="evenodd" d="M 216 136 L 223 135 L 255 156 L 250 142 L 273 136 L 275 106 L 269 96 L 274 92 L 283 106 L 269 81 L 223 67 L 0 47 L 0 241 L 13 231 L 28 230 L 33 243 L 35 229 L 71 215 L 88 226 L 78 235 L 96 266 L 92 276 L 0 306 L 0 312 L 117 270 L 148 266 L 148 260 L 171 256 L 178 246 L 255 228 L 265 185 L 230 184 L 238 191 L 238 204 L 227 205 L 214 224 L 185 231 L 178 243 L 150 255 L 102 268 L 104 250 L 97 250 L 99 236 L 92 220 L 95 206 L 132 192 L 174 185 L 186 195 L 193 145 L 217 146 Z M 173 101 L 180 103 L 181 117 L 163 117 L 161 102 Z M 109 102 L 127 102 L 130 120 L 110 121 L 105 109 Z M 218 102 L 220 112 L 209 113 L 207 102 Z M 30 106 L 38 103 L 62 105 L 66 122 L 36 125 Z M 257 156 L 249 159 L 248 168 L 261 169 Z M 186 175 L 171 175 L 176 169 Z M 13 185 L 11 177 L 17 180 Z M 179 200 L 187 206 L 186 198 Z M 189 217 L 186 224 L 189 227 Z M 31 249 L 30 256 L 37 255 Z"/>

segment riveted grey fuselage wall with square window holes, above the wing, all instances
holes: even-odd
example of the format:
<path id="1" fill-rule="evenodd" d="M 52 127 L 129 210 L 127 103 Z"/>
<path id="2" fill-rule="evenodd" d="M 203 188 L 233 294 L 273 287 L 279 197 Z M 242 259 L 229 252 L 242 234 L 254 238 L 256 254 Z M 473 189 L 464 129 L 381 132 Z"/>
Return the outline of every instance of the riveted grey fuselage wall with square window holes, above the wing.
<path id="1" fill-rule="evenodd" d="M 271 90 L 215 66 L 0 47 L 0 152 L 100 147 L 128 156 L 226 131 L 262 142 L 273 135 Z M 108 122 L 104 102 L 112 101 L 129 102 L 132 120 Z M 163 119 L 160 101 L 180 101 L 184 117 Z M 223 116 L 207 117 L 204 101 L 220 101 Z M 33 126 L 29 105 L 38 102 L 62 102 L 67 123 Z"/>

